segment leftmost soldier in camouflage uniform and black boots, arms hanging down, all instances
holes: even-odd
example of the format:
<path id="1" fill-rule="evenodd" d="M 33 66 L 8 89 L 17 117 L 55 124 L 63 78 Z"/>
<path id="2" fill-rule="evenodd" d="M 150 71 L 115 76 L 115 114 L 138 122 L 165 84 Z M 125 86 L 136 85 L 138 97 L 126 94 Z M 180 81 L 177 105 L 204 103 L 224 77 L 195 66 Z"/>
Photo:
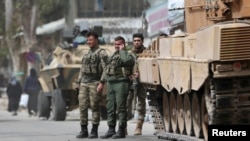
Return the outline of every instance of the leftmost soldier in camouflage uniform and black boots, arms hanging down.
<path id="1" fill-rule="evenodd" d="M 104 86 L 103 70 L 107 63 L 108 54 L 99 48 L 98 34 L 94 31 L 87 33 L 89 51 L 82 58 L 82 67 L 78 77 L 79 108 L 81 132 L 77 138 L 98 138 L 98 126 L 100 123 L 100 100 Z M 92 130 L 88 136 L 88 107 L 92 109 Z"/>

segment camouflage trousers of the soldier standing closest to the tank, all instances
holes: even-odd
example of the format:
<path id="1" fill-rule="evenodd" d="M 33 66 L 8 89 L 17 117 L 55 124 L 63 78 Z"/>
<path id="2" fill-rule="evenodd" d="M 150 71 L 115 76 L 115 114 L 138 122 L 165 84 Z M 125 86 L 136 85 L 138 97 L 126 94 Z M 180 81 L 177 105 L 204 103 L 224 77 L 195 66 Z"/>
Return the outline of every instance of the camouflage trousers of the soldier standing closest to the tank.
<path id="1" fill-rule="evenodd" d="M 127 113 L 130 114 L 133 112 L 132 110 L 137 110 L 138 120 L 144 120 L 146 114 L 146 97 L 147 93 L 142 85 L 138 85 L 137 94 L 134 94 L 134 90 L 130 89 L 127 98 Z"/>

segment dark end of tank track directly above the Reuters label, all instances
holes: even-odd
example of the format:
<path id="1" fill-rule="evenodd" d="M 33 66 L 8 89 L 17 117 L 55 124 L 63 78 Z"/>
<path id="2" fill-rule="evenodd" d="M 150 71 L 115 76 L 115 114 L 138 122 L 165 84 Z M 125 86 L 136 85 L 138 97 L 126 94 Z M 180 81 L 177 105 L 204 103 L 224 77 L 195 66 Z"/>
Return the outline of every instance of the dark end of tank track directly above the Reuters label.
<path id="1" fill-rule="evenodd" d="M 210 81 L 209 124 L 250 124 L 250 77 Z"/>

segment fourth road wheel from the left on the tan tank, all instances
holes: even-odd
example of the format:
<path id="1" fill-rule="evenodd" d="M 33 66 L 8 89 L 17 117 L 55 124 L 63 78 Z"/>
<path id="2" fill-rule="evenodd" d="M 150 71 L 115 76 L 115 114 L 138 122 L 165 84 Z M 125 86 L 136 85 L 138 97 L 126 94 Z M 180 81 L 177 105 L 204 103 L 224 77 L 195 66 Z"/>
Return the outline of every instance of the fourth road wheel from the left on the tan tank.
<path id="1" fill-rule="evenodd" d="M 187 135 L 191 136 L 192 121 L 191 121 L 191 103 L 189 94 L 184 94 L 184 122 Z"/>

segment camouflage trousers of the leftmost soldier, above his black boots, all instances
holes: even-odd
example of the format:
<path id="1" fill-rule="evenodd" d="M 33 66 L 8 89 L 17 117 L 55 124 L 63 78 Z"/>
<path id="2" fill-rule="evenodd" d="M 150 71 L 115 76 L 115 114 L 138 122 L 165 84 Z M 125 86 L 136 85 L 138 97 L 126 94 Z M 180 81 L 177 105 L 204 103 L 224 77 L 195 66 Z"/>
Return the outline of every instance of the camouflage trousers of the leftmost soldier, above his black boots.
<path id="1" fill-rule="evenodd" d="M 80 124 L 88 125 L 88 108 L 92 110 L 92 123 L 100 123 L 101 94 L 97 93 L 99 82 L 81 83 L 78 95 L 80 109 Z"/>

